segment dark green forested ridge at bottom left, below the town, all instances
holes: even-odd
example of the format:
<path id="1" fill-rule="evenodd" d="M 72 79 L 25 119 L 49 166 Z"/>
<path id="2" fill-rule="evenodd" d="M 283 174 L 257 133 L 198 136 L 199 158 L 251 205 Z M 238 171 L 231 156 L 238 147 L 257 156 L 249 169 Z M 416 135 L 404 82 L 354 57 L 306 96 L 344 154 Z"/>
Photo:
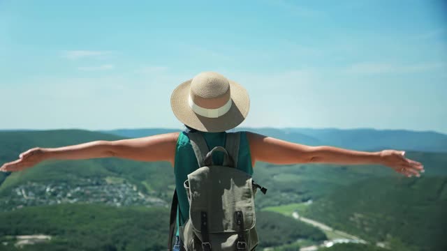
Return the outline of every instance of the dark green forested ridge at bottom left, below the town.
<path id="1" fill-rule="evenodd" d="M 0 213 L 0 238 L 6 250 L 22 250 L 14 248 L 14 236 L 31 234 L 50 235 L 52 241 L 25 250 L 166 250 L 168 215 L 166 208 L 31 206 Z"/>

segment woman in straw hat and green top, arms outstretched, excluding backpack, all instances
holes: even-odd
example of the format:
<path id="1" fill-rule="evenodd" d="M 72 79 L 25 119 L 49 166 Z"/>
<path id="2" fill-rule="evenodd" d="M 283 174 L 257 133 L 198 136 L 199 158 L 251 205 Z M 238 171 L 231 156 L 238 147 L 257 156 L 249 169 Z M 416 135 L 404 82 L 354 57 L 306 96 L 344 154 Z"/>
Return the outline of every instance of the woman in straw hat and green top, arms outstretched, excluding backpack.
<path id="1" fill-rule="evenodd" d="M 249 112 L 247 91 L 218 73 L 200 73 L 180 84 L 171 96 L 177 119 L 198 131 L 210 149 L 224 146 L 226 130 L 238 126 Z M 187 174 L 198 168 L 187 132 L 173 132 L 138 139 L 95 141 L 59 148 L 34 148 L 20 158 L 4 164 L 3 172 L 16 172 L 48 159 L 80 160 L 89 158 L 126 158 L 140 161 L 168 161 L 174 167 L 177 188 L 183 188 Z M 219 156 L 214 156 L 219 160 Z M 404 157 L 404 151 L 351 151 L 332 146 L 305 146 L 253 132 L 242 132 L 238 169 L 253 174 L 256 162 L 277 165 L 296 163 L 332 163 L 339 165 L 379 164 L 406 176 L 423 172 L 420 162 Z M 181 164 L 181 166 L 180 166 Z M 179 225 L 188 218 L 188 200 L 184 189 L 177 189 L 181 215 Z"/>

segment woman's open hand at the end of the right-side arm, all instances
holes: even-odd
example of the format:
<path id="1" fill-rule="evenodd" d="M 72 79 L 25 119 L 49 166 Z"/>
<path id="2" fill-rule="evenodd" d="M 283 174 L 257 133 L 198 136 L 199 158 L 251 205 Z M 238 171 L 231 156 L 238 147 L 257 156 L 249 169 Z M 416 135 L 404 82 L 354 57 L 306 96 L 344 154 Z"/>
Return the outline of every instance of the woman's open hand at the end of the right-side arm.
<path id="1" fill-rule="evenodd" d="M 391 167 L 400 174 L 408 177 L 420 176 L 421 172 L 425 172 L 424 166 L 417 161 L 405 158 L 404 151 L 383 150 L 380 152 L 381 164 Z"/>

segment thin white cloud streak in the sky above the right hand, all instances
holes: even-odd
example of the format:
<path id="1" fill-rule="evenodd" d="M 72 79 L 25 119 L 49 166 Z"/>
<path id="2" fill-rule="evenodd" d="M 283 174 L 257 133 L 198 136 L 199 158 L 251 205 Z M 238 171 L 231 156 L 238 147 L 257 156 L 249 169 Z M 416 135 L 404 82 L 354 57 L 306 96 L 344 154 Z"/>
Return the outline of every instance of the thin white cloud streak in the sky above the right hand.
<path id="1" fill-rule="evenodd" d="M 385 74 L 385 73 L 421 73 L 446 68 L 446 63 L 418 63 L 399 65 L 395 63 L 356 63 L 348 66 L 344 72 L 351 74 Z"/>

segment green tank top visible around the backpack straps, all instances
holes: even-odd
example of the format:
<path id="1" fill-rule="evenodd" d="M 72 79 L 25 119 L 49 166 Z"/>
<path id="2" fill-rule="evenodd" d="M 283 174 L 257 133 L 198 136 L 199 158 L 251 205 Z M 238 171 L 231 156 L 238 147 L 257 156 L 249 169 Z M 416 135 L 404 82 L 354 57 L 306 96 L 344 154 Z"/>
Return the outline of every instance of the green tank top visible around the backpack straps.
<path id="1" fill-rule="evenodd" d="M 213 149 L 215 146 L 225 146 L 226 132 L 200 132 L 207 142 L 208 149 Z M 223 153 L 216 153 L 213 155 L 214 163 L 221 165 L 223 162 Z M 189 202 L 184 190 L 184 181 L 188 179 L 188 174 L 198 169 L 196 155 L 194 155 L 191 142 L 186 132 L 180 132 L 177 139 L 177 147 L 175 150 L 175 186 L 177 189 L 177 197 L 179 207 L 177 208 L 177 226 L 184 225 L 184 222 L 189 218 Z M 237 169 L 253 175 L 253 167 L 251 167 L 251 155 L 249 142 L 247 140 L 247 133 L 241 132 L 239 157 L 237 160 Z M 177 236 L 179 235 L 177 227 Z"/>

